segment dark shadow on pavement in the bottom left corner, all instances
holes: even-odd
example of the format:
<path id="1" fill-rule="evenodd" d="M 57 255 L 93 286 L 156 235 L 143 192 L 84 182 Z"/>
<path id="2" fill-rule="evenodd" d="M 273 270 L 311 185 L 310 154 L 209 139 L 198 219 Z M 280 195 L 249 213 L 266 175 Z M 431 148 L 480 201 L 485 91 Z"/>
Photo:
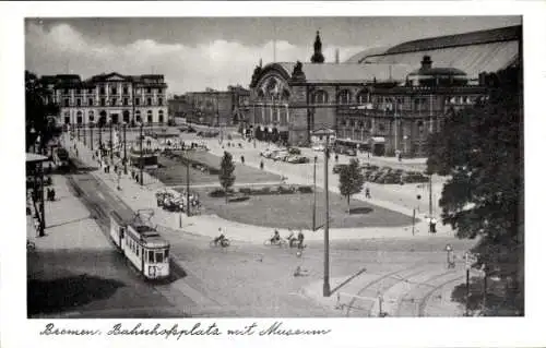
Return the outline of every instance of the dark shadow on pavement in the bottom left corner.
<path id="1" fill-rule="evenodd" d="M 27 280 L 27 315 L 62 312 L 111 297 L 124 284 L 87 274 L 52 280 Z"/>

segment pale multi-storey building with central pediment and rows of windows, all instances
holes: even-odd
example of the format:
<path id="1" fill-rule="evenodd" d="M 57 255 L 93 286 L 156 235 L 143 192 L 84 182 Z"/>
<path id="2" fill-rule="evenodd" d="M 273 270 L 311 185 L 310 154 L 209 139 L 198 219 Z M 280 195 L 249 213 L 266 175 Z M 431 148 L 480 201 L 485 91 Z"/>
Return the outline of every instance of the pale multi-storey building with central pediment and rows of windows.
<path id="1" fill-rule="evenodd" d="M 163 75 L 100 74 L 43 76 L 59 105 L 58 122 L 105 125 L 163 124 L 168 121 L 167 84 Z"/>

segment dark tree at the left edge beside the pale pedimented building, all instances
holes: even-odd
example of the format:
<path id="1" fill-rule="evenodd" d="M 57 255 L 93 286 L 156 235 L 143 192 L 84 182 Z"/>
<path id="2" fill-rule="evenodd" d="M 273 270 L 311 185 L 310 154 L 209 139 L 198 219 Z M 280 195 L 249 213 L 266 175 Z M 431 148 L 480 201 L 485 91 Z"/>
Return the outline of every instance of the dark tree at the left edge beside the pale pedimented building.
<path id="1" fill-rule="evenodd" d="M 40 148 L 55 135 L 55 124 L 48 116 L 57 115 L 57 105 L 48 101 L 50 92 L 43 85 L 41 79 L 25 70 L 25 124 L 26 148 L 39 136 Z M 31 130 L 34 129 L 34 132 Z"/>

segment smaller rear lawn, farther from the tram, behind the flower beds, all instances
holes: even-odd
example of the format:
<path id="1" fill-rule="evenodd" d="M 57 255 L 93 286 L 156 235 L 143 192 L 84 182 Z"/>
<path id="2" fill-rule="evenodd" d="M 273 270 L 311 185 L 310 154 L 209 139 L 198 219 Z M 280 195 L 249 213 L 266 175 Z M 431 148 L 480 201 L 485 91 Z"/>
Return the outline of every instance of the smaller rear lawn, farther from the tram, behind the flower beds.
<path id="1" fill-rule="evenodd" d="M 219 168 L 221 158 L 205 152 L 190 152 L 190 158 L 200 163 Z M 281 181 L 281 177 L 268 171 L 251 168 L 240 164 L 240 158 L 234 158 L 235 161 L 235 183 L 256 183 Z M 169 159 L 159 157 L 159 164 L 164 168 L 157 170 L 158 179 L 167 185 L 186 184 L 186 166 Z M 217 175 L 209 175 L 197 169 L 190 168 L 190 183 L 192 184 L 214 184 L 218 183 Z"/>

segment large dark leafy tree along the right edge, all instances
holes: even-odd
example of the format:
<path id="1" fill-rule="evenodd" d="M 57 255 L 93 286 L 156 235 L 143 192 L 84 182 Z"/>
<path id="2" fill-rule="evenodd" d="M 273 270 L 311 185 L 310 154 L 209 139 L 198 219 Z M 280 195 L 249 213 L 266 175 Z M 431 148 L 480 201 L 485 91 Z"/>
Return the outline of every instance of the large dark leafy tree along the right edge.
<path id="1" fill-rule="evenodd" d="M 453 112 L 431 134 L 427 170 L 449 175 L 440 206 L 459 238 L 477 238 L 475 267 L 509 285 L 523 312 L 522 74 L 508 68 L 487 76 L 486 97 Z"/>

